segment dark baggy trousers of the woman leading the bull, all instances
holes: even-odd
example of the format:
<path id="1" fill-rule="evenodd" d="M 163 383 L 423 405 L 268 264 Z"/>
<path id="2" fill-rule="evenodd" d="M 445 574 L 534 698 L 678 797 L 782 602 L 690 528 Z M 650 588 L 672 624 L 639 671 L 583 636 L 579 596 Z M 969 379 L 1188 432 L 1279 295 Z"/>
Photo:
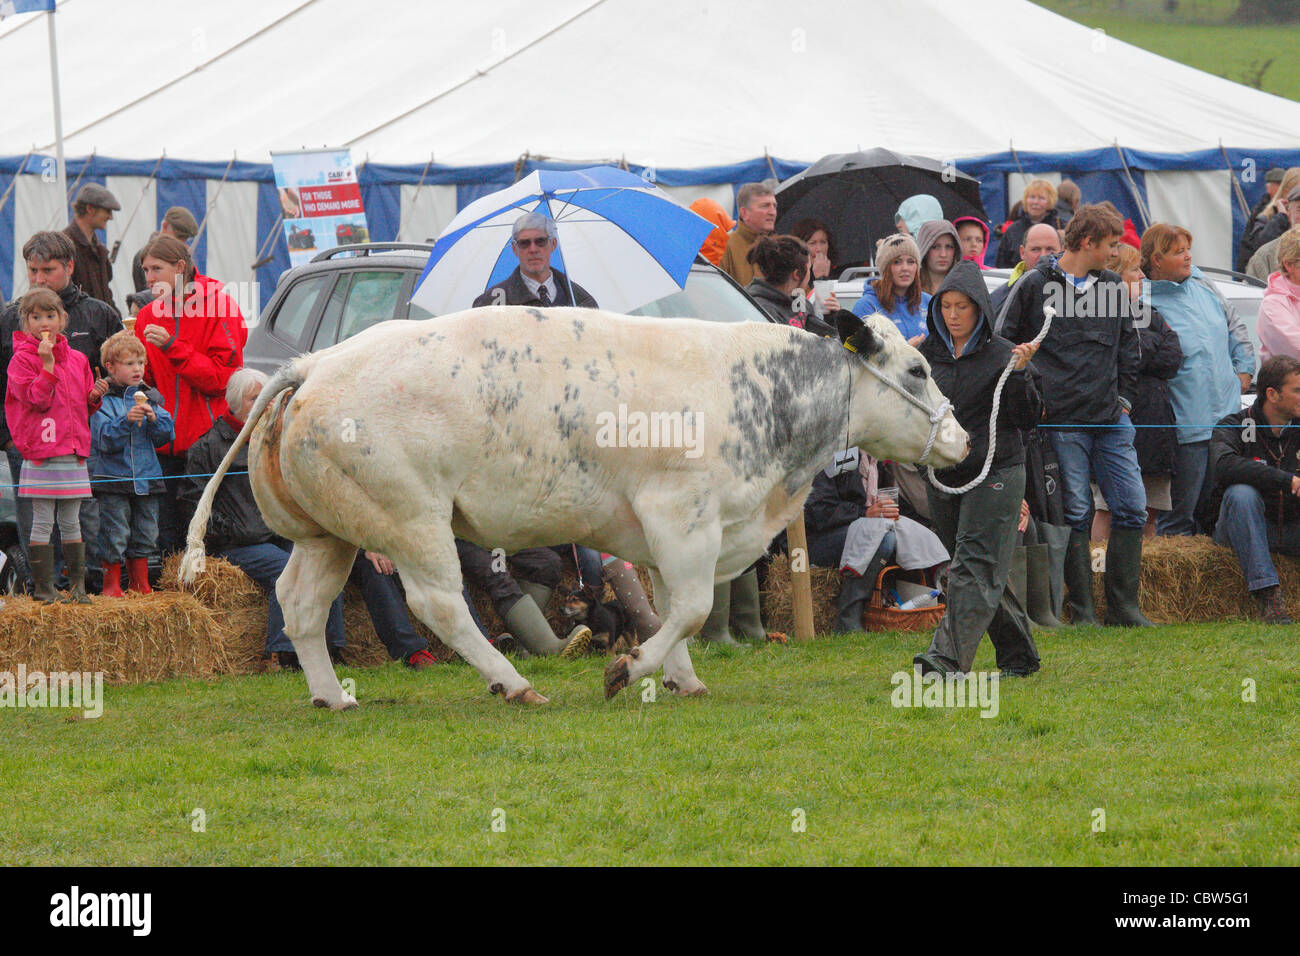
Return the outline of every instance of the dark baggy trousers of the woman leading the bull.
<path id="1" fill-rule="evenodd" d="M 975 650 L 988 632 L 1000 669 L 1032 670 L 1039 650 L 1020 598 L 1006 587 L 1015 525 L 1024 497 L 1024 466 L 994 468 L 966 494 L 930 488 L 935 533 L 953 555 L 948 566 L 948 605 L 930 643 L 930 653 L 962 672 L 975 662 Z"/>

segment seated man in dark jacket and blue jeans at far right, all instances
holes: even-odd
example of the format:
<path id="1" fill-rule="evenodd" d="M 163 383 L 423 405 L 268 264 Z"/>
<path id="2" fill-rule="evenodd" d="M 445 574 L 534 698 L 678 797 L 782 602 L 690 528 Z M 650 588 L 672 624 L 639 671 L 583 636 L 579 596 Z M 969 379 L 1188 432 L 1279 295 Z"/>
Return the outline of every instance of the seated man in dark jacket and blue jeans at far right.
<path id="1" fill-rule="evenodd" d="M 1300 557 L 1300 362 L 1274 355 L 1256 388 L 1254 405 L 1222 419 L 1210 437 L 1204 518 L 1217 515 L 1214 541 L 1236 551 L 1260 619 L 1290 624 L 1269 551 Z"/>

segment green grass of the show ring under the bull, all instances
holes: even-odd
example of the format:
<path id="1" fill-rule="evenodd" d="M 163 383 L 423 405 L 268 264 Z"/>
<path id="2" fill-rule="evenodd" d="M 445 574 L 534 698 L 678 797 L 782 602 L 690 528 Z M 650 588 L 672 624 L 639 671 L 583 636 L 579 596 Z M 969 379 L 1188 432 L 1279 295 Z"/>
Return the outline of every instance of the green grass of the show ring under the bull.
<path id="1" fill-rule="evenodd" d="M 992 718 L 890 705 L 920 644 L 696 648 L 693 700 L 589 658 L 521 662 L 533 709 L 390 665 L 342 714 L 291 674 L 0 710 L 0 864 L 1300 864 L 1295 628 L 1044 632 Z"/>

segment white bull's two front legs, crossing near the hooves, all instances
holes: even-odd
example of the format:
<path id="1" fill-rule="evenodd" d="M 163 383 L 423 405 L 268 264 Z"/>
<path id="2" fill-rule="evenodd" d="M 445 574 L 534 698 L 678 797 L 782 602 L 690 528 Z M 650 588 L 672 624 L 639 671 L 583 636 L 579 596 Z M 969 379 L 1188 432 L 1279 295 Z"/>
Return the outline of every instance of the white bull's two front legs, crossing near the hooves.
<path id="1" fill-rule="evenodd" d="M 672 656 L 672 665 L 666 672 L 666 678 L 672 679 L 673 683 L 684 682 L 682 685 L 692 688 L 688 692 L 698 692 L 696 684 L 703 688 L 703 684 L 696 678 L 694 670 L 690 669 L 689 653 L 684 646 L 679 652 L 677 645 L 682 637 L 696 633 L 701 628 L 705 618 L 708 617 L 708 609 L 712 607 L 714 568 L 718 564 L 722 531 L 714 525 L 682 533 L 680 528 L 672 527 L 670 523 L 655 520 L 654 511 L 640 515 L 640 518 L 655 566 L 659 570 L 655 588 L 658 591 L 662 581 L 670 594 L 670 604 L 667 613 L 660 609 L 663 623 L 659 632 L 641 646 L 616 657 L 604 669 L 606 698 L 612 697 L 628 684 L 634 684 L 641 678 L 654 674 L 670 656 Z M 682 658 L 685 658 L 685 667 Z M 692 683 L 692 678 L 694 678 L 694 683 Z"/>

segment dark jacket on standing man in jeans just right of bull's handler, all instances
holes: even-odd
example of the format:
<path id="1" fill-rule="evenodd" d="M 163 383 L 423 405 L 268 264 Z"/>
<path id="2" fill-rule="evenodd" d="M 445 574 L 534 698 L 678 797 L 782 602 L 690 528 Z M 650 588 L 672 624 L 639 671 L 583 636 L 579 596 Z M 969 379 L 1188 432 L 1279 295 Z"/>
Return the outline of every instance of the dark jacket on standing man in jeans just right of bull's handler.
<path id="1" fill-rule="evenodd" d="M 1011 287 L 1002 334 L 1013 342 L 1032 339 L 1052 300 L 1057 316 L 1034 358 L 1043 376 L 1045 421 L 1078 428 L 1118 424 L 1121 399 L 1130 408 L 1136 401 L 1141 364 L 1128 290 L 1110 269 L 1093 273 L 1093 282 L 1079 290 L 1057 260 L 1043 256 Z"/>

